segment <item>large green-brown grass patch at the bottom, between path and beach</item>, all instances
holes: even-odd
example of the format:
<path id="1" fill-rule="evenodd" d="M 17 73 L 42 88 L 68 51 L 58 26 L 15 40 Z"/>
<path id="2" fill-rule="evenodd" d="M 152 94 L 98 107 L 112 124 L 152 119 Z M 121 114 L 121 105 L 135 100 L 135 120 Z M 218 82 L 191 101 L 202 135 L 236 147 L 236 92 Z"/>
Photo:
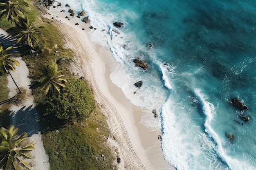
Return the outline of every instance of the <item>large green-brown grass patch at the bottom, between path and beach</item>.
<path id="1" fill-rule="evenodd" d="M 117 170 L 117 158 L 106 147 L 108 135 L 108 125 L 99 108 L 88 119 L 45 132 L 43 142 L 51 170 Z"/>

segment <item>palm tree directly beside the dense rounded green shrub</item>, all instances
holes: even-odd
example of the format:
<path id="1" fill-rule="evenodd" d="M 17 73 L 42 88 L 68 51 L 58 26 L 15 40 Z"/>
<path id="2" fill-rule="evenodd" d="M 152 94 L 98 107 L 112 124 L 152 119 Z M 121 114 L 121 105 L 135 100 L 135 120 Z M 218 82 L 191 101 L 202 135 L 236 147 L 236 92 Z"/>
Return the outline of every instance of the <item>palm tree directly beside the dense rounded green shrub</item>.
<path id="1" fill-rule="evenodd" d="M 66 79 L 62 77 L 65 75 L 60 75 L 58 71 L 58 65 L 53 63 L 52 65 L 44 65 L 43 73 L 39 76 L 34 77 L 36 80 L 31 85 L 31 88 L 36 88 L 40 86 L 40 92 L 44 90 L 45 95 L 52 95 L 55 90 L 58 94 L 61 94 L 61 88 L 66 87 Z"/>

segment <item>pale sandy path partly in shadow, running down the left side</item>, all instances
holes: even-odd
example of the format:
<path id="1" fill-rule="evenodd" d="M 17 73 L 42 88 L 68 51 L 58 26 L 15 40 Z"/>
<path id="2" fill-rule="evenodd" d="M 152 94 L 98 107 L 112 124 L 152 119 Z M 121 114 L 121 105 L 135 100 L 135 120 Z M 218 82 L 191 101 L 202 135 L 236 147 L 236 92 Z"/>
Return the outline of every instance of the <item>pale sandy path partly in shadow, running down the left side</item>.
<path id="1" fill-rule="evenodd" d="M 33 169 L 50 170 L 49 158 L 45 152 L 42 136 L 40 134 L 39 113 L 34 108 L 34 97 L 31 95 L 31 89 L 29 89 L 30 79 L 27 77 L 29 70 L 21 57 L 16 58 L 16 60 L 20 62 L 20 66 L 15 66 L 16 71 L 10 71 L 10 73 L 18 86 L 27 90 L 27 94 L 25 99 L 22 100 L 22 103 L 11 104 L 11 124 L 19 128 L 19 132 L 27 132 L 29 141 L 36 143 L 36 149 L 31 151 L 31 154 L 35 157 L 32 162 Z M 17 94 L 17 88 L 11 76 L 8 75 L 7 78 L 7 86 L 10 89 L 9 96 L 13 97 Z"/>

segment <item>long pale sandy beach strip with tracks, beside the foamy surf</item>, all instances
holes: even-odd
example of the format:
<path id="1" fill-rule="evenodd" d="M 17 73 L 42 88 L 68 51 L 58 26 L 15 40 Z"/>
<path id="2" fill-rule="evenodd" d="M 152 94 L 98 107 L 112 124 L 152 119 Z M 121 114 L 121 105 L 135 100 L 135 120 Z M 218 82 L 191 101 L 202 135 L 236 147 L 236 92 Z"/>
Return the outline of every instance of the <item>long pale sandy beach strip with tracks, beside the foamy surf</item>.
<path id="1" fill-rule="evenodd" d="M 164 159 L 158 134 L 147 130 L 141 124 L 142 109 L 133 105 L 127 99 L 121 88 L 117 87 L 110 79 L 109 62 L 115 62 L 110 50 L 106 47 L 104 58 L 100 57 L 102 47 L 91 42 L 88 32 L 90 24 L 81 22 L 81 19 L 65 18 L 69 13 L 61 13 L 63 7 L 50 7 L 48 18 L 64 35 L 69 47 L 80 61 L 83 76 L 92 87 L 95 100 L 101 105 L 103 115 L 106 116 L 110 133 L 116 139 L 123 161 L 121 169 L 157 169 L 174 170 Z M 79 23 L 79 25 L 75 25 Z M 85 30 L 82 30 L 84 28 Z M 93 31 L 93 30 L 92 30 Z M 80 47 L 80 48 L 76 48 Z M 83 47 L 83 48 L 81 48 Z M 86 50 L 85 50 L 86 48 Z M 83 54 L 83 55 L 81 55 Z M 100 69 L 99 69 L 100 68 Z"/>

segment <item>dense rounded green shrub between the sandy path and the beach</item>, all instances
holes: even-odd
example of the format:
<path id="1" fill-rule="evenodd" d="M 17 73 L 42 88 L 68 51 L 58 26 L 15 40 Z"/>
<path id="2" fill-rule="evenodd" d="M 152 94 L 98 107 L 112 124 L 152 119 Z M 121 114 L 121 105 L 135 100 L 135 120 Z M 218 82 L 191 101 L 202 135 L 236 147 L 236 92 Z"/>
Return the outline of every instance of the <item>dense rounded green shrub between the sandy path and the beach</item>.
<path id="1" fill-rule="evenodd" d="M 84 81 L 70 77 L 61 95 L 48 97 L 44 104 L 45 115 L 54 113 L 59 119 L 81 119 L 91 113 L 94 108 L 94 98 L 91 89 Z"/>

